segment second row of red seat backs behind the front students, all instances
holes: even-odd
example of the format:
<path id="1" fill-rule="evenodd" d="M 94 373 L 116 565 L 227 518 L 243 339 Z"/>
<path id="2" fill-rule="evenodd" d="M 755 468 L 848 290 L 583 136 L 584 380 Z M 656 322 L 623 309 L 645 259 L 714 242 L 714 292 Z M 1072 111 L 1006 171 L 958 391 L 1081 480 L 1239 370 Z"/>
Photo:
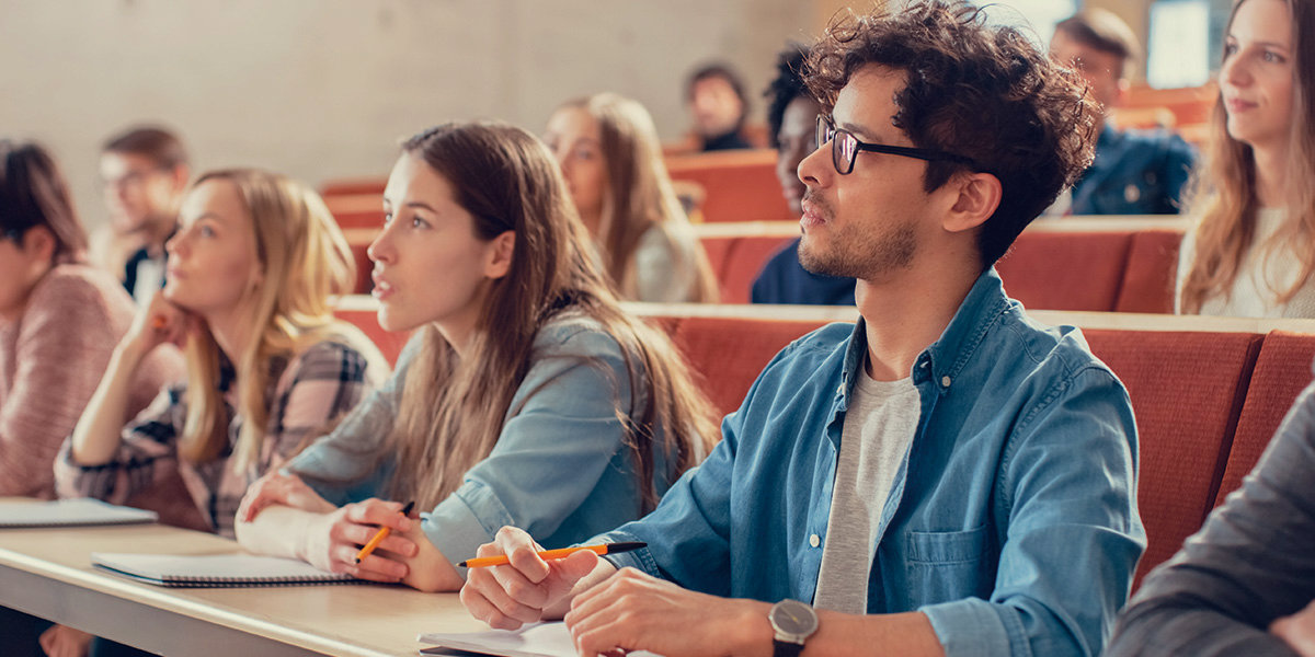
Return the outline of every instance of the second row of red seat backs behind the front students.
<path id="1" fill-rule="evenodd" d="M 356 258 L 356 292 L 370 289 L 366 254 L 377 230 L 339 214 Z M 354 223 L 355 222 L 355 223 Z M 747 304 L 753 279 L 778 248 L 800 234 L 798 222 L 694 226 L 721 286 L 723 304 Z M 1068 217 L 1034 222 L 997 263 L 1010 296 L 1027 307 L 1172 313 L 1182 218 Z"/>

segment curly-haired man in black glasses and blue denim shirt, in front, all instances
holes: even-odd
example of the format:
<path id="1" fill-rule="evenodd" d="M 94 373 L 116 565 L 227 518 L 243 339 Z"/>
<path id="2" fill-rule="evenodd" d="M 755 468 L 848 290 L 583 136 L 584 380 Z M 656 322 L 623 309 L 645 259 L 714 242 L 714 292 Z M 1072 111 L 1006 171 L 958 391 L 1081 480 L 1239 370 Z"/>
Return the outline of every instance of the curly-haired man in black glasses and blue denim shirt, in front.
<path id="1" fill-rule="evenodd" d="M 1090 101 L 964 4 L 832 25 L 807 81 L 800 260 L 856 277 L 863 319 L 786 347 L 707 460 L 596 539 L 647 547 L 547 562 L 504 528 L 480 552 L 512 564 L 463 602 L 565 614 L 590 656 L 1099 653 L 1145 547 L 1131 403 L 992 268 L 1090 162 Z"/>

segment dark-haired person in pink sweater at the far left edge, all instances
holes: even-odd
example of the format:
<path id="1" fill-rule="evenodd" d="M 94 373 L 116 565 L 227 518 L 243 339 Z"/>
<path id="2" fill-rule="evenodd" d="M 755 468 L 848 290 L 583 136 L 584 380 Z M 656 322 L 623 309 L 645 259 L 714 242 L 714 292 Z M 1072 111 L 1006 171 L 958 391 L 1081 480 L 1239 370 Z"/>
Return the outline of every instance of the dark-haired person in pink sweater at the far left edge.
<path id="1" fill-rule="evenodd" d="M 55 497 L 59 445 L 132 321 L 124 288 L 87 264 L 59 166 L 39 145 L 0 141 L 0 495 Z M 181 374 L 176 350 L 154 353 L 130 384 L 128 410 Z M 158 510 L 179 524 L 192 519 Z M 0 610 L 0 652 L 43 654 L 46 625 Z"/>

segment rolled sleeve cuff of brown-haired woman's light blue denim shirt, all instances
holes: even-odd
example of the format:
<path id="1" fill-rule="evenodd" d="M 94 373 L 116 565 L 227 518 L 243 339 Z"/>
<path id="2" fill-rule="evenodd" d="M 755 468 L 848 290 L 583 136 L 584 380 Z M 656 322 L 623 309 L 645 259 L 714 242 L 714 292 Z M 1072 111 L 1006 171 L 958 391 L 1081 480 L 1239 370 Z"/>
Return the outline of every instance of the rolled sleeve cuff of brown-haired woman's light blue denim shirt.
<path id="1" fill-rule="evenodd" d="M 473 558 L 480 545 L 508 524 L 512 514 L 492 489 L 477 481 L 467 481 L 433 511 L 421 514 L 425 536 L 452 565 Z M 456 570 L 466 577 L 464 568 Z"/>

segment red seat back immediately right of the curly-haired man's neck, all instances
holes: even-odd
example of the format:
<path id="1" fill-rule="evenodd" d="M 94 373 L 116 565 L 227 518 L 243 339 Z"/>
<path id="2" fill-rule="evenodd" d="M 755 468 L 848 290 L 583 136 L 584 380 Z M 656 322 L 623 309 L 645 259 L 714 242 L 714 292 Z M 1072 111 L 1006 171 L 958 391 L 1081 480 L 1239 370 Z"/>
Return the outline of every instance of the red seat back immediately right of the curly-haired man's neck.
<path id="1" fill-rule="evenodd" d="M 1024 231 L 995 269 L 1030 309 L 1114 310 L 1131 233 Z"/>

